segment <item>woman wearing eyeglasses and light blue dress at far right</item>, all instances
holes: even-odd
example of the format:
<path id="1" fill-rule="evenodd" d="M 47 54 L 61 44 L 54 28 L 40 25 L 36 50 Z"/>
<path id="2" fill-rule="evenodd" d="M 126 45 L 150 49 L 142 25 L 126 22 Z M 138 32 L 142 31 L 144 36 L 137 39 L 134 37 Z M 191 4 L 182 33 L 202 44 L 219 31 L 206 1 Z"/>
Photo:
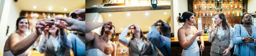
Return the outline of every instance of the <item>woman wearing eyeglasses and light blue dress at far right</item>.
<path id="1" fill-rule="evenodd" d="M 238 56 L 255 56 L 255 26 L 251 25 L 252 15 L 244 14 L 241 24 L 234 26 L 233 44 L 235 44 L 234 54 Z"/>

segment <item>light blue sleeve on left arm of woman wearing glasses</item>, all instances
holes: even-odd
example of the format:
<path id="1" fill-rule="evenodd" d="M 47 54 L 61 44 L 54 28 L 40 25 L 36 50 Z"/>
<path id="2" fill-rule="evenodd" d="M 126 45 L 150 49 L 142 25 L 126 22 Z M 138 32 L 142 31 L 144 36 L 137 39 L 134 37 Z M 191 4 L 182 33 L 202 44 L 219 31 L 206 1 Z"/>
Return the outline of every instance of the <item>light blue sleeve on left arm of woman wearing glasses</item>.
<path id="1" fill-rule="evenodd" d="M 233 33 L 233 44 L 239 44 L 239 43 L 242 43 L 242 37 L 240 36 L 240 25 L 236 24 L 234 26 L 234 33 Z"/>

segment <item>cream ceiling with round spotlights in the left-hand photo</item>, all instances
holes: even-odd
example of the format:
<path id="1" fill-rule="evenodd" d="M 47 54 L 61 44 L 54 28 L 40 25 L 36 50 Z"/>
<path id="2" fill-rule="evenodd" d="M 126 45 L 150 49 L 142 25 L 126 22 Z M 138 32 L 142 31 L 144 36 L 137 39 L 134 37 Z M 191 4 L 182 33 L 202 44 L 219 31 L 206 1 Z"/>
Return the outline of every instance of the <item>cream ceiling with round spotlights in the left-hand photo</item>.
<path id="1" fill-rule="evenodd" d="M 78 8 L 85 8 L 85 0 L 18 0 L 16 3 L 23 11 L 69 13 Z M 36 6 L 36 9 L 33 6 Z M 50 7 L 51 11 L 48 9 Z M 64 11 L 64 8 L 67 8 L 67 11 Z"/>

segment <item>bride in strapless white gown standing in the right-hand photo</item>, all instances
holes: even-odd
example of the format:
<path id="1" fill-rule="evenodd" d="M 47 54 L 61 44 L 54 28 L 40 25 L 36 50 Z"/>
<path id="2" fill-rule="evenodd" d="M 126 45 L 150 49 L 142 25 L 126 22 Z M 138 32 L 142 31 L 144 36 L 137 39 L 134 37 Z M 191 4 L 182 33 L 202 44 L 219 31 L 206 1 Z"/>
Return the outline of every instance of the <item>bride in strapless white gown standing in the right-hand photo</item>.
<path id="1" fill-rule="evenodd" d="M 195 26 L 191 26 L 194 23 L 194 15 L 191 12 L 184 12 L 182 16 L 178 16 L 178 22 L 184 23 L 178 30 L 178 40 L 181 48 L 183 48 L 181 56 L 199 56 L 199 50 L 204 51 L 203 31 L 198 31 Z M 197 40 L 200 39 L 200 49 L 197 44 Z"/>

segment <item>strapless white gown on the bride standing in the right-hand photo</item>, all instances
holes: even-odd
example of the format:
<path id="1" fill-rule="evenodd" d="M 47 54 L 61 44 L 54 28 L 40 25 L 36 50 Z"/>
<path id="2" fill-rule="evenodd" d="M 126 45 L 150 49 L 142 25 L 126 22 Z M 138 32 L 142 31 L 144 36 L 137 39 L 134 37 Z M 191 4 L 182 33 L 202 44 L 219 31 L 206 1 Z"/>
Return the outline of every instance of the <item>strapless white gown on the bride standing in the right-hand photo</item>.
<path id="1" fill-rule="evenodd" d="M 190 38 L 194 35 L 188 35 L 186 36 L 187 41 L 190 40 Z M 199 56 L 199 47 L 197 44 L 197 40 L 199 39 L 199 36 L 196 37 L 196 40 L 193 42 L 193 44 L 187 49 L 182 50 L 181 56 Z"/>

